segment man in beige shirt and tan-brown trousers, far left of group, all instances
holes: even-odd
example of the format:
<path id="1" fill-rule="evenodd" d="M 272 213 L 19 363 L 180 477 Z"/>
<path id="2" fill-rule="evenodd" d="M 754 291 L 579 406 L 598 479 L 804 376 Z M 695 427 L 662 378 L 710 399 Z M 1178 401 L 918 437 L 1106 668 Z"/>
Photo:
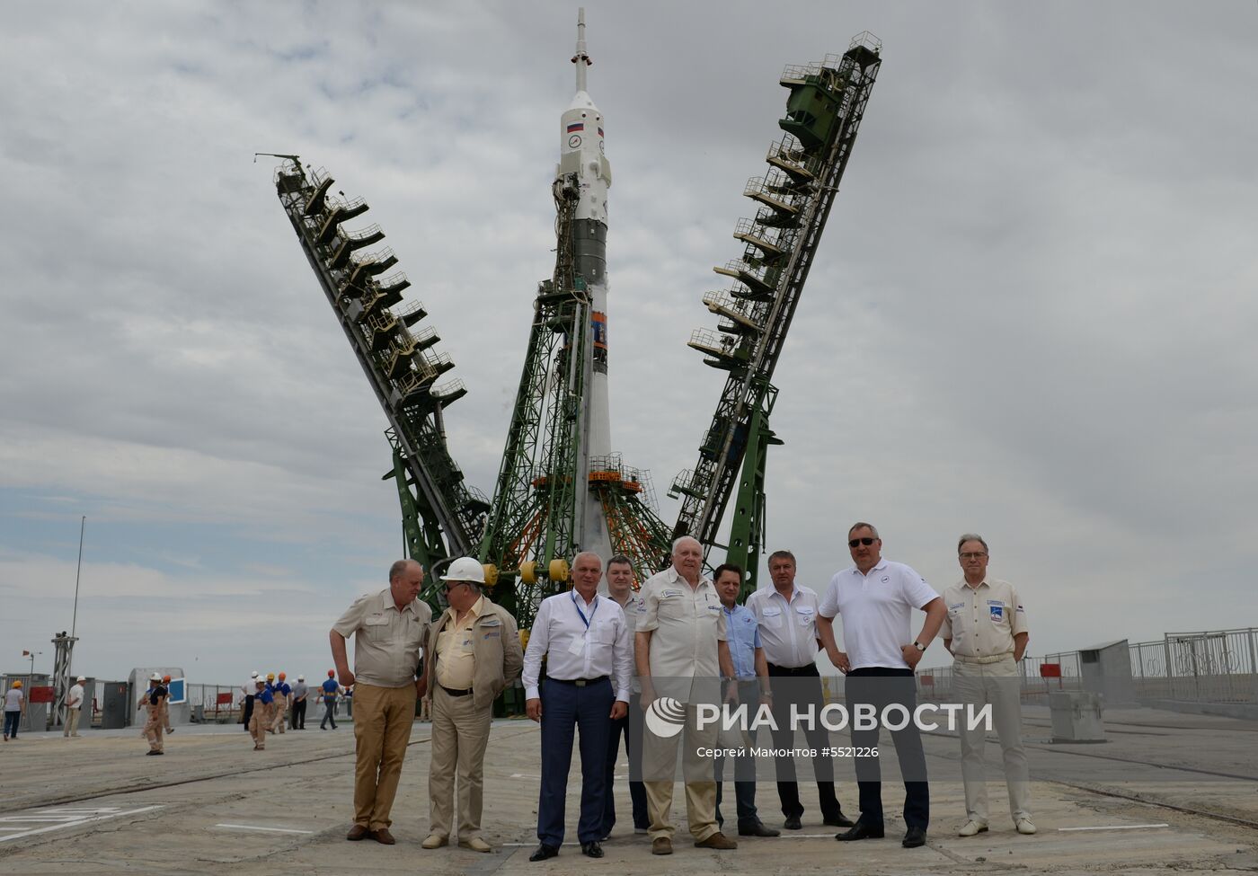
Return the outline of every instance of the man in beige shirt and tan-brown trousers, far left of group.
<path id="1" fill-rule="evenodd" d="M 389 569 L 389 588 L 360 597 L 332 627 L 328 638 L 341 685 L 353 685 L 353 827 L 346 840 L 371 836 L 392 846 L 389 818 L 401 763 L 406 756 L 415 700 L 424 695 L 420 648 L 428 638 L 433 609 L 420 602 L 424 566 L 398 560 Z M 345 639 L 353 636 L 353 671 Z"/>

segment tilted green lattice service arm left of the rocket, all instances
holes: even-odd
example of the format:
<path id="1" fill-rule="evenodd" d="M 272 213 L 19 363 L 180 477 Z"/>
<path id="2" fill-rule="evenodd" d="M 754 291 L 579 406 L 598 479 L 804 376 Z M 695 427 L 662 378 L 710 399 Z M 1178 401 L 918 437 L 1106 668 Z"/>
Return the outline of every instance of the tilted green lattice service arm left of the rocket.
<path id="1" fill-rule="evenodd" d="M 398 480 L 410 555 L 431 570 L 474 554 L 489 503 L 464 483 L 445 444 L 443 412 L 467 394 L 462 380 L 437 383 L 454 362 L 437 351 L 434 328 L 411 331 L 428 313 L 418 301 L 403 306 L 410 281 L 386 273 L 398 263 L 392 250 L 360 252 L 384 239 L 380 227 L 343 228 L 366 203 L 328 194 L 332 177 L 307 175 L 296 155 L 277 157 L 287 159 L 276 171 L 279 203 L 389 420 L 394 468 L 385 477 Z"/>

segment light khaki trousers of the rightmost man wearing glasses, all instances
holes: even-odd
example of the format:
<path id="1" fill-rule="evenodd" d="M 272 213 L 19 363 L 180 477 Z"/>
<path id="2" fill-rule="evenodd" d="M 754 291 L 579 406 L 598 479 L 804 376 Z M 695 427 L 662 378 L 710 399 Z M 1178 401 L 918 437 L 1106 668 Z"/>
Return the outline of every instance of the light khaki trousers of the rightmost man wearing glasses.
<path id="1" fill-rule="evenodd" d="M 991 724 L 1000 739 L 1009 814 L 1016 822 L 1030 818 L 1030 773 L 1021 745 L 1021 677 L 1014 656 L 996 663 L 952 663 L 952 687 L 962 704 L 991 706 Z M 986 729 L 969 730 L 965 712 L 957 727 L 961 736 L 961 779 L 965 783 L 965 812 L 971 821 L 988 822 L 988 782 L 984 775 Z"/>

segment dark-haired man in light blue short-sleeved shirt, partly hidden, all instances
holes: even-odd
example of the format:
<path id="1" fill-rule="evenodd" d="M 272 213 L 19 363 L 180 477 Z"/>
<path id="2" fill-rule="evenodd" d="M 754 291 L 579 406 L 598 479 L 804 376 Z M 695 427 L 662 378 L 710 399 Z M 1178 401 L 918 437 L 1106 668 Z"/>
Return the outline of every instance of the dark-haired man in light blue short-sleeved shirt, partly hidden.
<path id="1" fill-rule="evenodd" d="M 747 720 L 754 720 L 760 707 L 760 697 L 769 696 L 769 665 L 765 651 L 760 647 L 760 628 L 756 615 L 745 605 L 738 605 L 738 590 L 742 589 L 742 566 L 725 563 L 716 568 L 712 576 L 716 593 L 725 610 L 725 632 L 730 643 L 730 657 L 733 660 L 733 678 L 726 678 L 726 685 L 736 685 L 738 704 L 747 706 Z M 743 748 L 755 743 L 754 735 L 745 735 Z M 780 831 L 765 827 L 756 814 L 756 764 L 751 754 L 732 758 L 733 797 L 738 812 L 740 837 L 776 837 Z M 721 772 L 725 758 L 716 759 L 716 823 L 723 824 L 721 816 Z"/>

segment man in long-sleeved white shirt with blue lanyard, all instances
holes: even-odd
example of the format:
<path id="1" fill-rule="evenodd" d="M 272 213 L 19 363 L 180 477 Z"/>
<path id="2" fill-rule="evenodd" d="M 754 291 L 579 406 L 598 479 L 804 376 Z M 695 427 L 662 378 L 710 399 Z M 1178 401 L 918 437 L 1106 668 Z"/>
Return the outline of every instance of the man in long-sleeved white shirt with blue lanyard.
<path id="1" fill-rule="evenodd" d="M 525 709 L 542 725 L 540 845 L 530 861 L 552 858 L 564 845 L 564 803 L 576 727 L 581 731 L 581 817 L 576 838 L 582 855 L 603 857 L 608 735 L 611 721 L 623 719 L 629 709 L 633 649 L 624 610 L 599 595 L 600 578 L 603 560 L 598 554 L 577 554 L 572 560 L 572 589 L 542 600 L 528 634 L 522 675 Z"/>

